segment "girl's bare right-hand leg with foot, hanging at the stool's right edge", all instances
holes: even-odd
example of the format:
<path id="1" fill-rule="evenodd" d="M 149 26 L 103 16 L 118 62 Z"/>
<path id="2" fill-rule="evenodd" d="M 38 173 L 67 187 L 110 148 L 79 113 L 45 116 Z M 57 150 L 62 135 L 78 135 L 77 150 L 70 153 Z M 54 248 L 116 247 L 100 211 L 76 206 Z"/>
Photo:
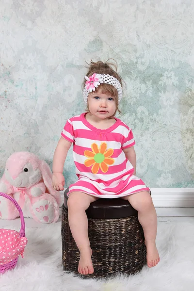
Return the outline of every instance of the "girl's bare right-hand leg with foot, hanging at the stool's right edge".
<path id="1" fill-rule="evenodd" d="M 132 207 L 138 211 L 138 219 L 144 229 L 147 265 L 150 268 L 154 267 L 159 263 L 160 257 L 155 242 L 157 215 L 152 198 L 147 191 L 138 192 L 122 198 L 128 200 Z"/>

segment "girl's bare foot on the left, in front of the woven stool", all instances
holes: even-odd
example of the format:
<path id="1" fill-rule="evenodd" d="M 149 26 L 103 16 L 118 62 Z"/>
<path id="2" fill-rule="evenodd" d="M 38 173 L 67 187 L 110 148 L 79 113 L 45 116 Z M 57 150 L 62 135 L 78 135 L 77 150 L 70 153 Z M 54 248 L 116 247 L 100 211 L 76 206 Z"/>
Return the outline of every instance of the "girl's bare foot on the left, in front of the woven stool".
<path id="1" fill-rule="evenodd" d="M 88 275 L 88 274 L 94 273 L 91 256 L 92 256 L 92 250 L 90 247 L 82 249 L 80 251 L 80 261 L 78 265 L 78 272 L 81 275 Z"/>

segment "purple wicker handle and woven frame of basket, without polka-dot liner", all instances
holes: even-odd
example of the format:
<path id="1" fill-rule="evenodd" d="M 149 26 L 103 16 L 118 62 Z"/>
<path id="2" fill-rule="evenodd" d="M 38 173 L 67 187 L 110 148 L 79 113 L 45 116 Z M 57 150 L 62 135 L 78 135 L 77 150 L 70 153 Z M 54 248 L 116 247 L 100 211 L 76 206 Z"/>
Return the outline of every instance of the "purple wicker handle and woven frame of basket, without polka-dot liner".
<path id="1" fill-rule="evenodd" d="M 4 194 L 2 192 L 0 192 L 0 196 L 3 196 L 5 198 L 9 199 L 10 201 L 12 201 L 14 203 L 14 205 L 16 206 L 17 210 L 19 211 L 19 215 L 20 215 L 20 219 L 21 219 L 21 228 L 20 228 L 19 233 L 15 231 L 15 235 L 18 238 L 24 238 L 25 237 L 25 221 L 24 221 L 24 216 L 23 216 L 23 213 L 22 213 L 22 210 L 21 210 L 20 206 L 18 205 L 18 203 L 16 202 L 16 200 L 14 198 L 12 198 L 11 196 L 9 196 L 7 194 Z M 8 231 L 8 232 L 11 232 L 12 230 L 10 230 L 10 229 L 0 229 L 0 231 L 3 231 L 3 232 Z M 24 242 L 26 244 L 27 243 L 27 239 Z M 21 242 L 21 243 L 24 243 L 24 242 Z M 23 249 L 22 249 L 22 251 L 20 253 L 23 254 Z M 6 271 L 12 270 L 13 268 L 15 268 L 16 267 L 16 263 L 17 263 L 17 260 L 18 260 L 18 257 L 19 257 L 19 254 L 18 254 L 18 256 L 16 258 L 11 259 L 7 263 L 4 263 L 4 264 L 3 263 L 0 263 L 0 274 L 3 274 Z M 5 259 L 7 259 L 7 258 L 5 258 Z"/>

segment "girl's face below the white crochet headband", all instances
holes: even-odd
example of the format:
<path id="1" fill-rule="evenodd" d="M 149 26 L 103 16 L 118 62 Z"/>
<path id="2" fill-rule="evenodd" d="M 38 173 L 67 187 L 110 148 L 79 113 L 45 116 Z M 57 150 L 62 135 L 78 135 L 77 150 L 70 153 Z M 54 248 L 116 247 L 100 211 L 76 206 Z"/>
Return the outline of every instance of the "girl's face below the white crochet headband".
<path id="1" fill-rule="evenodd" d="M 113 96 L 104 94 L 99 89 L 98 92 L 92 92 L 88 96 L 88 108 L 92 115 L 97 119 L 106 120 L 114 115 L 116 103 Z"/>

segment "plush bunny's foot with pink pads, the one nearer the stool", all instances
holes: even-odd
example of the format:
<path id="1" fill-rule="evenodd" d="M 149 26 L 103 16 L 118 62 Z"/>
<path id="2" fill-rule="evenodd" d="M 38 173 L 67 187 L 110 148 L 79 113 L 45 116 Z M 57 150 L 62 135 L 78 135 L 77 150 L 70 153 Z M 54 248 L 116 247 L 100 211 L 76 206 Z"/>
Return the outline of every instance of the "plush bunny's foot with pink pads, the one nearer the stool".
<path id="1" fill-rule="evenodd" d="M 54 205 L 48 200 L 39 200 L 32 205 L 38 222 L 51 223 L 54 219 Z"/>

